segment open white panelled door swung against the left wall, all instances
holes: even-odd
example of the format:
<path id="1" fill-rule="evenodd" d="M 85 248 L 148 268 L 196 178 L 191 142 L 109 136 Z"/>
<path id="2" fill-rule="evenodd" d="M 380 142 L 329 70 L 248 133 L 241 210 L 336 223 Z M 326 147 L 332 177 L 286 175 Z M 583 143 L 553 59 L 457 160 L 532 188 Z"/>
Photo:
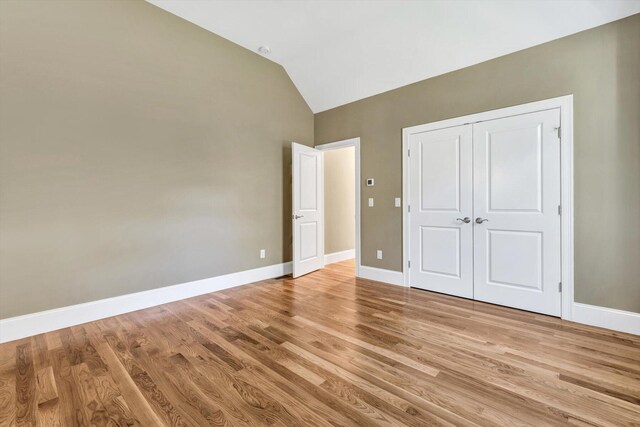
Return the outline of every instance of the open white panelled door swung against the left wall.
<path id="1" fill-rule="evenodd" d="M 291 144 L 293 163 L 293 277 L 324 267 L 322 151 Z"/>

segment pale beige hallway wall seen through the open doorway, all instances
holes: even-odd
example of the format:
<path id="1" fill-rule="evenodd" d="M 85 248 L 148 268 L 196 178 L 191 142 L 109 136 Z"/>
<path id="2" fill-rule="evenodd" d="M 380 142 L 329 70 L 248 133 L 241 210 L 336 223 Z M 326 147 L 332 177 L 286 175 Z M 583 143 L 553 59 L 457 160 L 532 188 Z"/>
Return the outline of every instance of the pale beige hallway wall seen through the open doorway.
<path id="1" fill-rule="evenodd" d="M 324 152 L 324 252 L 355 248 L 355 148 Z"/>

